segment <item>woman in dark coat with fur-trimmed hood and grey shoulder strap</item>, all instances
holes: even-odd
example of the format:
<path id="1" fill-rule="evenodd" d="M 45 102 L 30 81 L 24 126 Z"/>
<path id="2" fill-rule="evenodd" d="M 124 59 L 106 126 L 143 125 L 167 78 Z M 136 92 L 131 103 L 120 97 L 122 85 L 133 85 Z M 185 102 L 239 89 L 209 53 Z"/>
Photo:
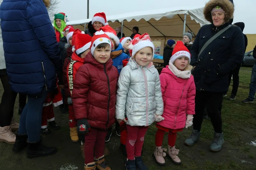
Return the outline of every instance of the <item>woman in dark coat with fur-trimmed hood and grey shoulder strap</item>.
<path id="1" fill-rule="evenodd" d="M 229 0 L 210 0 L 205 5 L 204 17 L 211 24 L 200 28 L 190 50 L 190 64 L 195 67 L 196 114 L 192 134 L 185 144 L 192 146 L 199 140 L 206 107 L 214 129 L 214 139 L 210 146 L 212 152 L 220 151 L 224 143 L 219 104 L 222 103 L 223 93 L 228 90 L 229 72 L 243 61 L 244 35 L 239 27 L 231 26 L 198 54 L 212 36 L 229 26 L 233 13 L 234 6 Z"/>

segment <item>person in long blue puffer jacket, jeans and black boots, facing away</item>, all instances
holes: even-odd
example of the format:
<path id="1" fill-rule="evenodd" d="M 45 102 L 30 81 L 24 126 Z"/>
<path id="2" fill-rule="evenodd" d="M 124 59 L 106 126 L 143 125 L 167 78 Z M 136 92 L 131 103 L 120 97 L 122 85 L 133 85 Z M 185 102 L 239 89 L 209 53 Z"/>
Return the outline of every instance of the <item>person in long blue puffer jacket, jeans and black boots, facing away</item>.
<path id="1" fill-rule="evenodd" d="M 29 158 L 57 152 L 44 146 L 40 136 L 44 99 L 56 87 L 56 72 L 61 77 L 60 51 L 46 6 L 50 0 L 3 0 L 0 6 L 9 82 L 13 91 L 28 94 L 13 151 L 28 144 Z"/>

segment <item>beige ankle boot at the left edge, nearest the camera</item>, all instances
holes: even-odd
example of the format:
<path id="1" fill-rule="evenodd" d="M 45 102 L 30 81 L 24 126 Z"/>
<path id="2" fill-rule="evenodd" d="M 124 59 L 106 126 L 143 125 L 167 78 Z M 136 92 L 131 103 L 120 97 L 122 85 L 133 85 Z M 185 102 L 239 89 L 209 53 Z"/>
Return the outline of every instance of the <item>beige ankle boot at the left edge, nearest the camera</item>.
<path id="1" fill-rule="evenodd" d="M 0 143 L 6 142 L 8 144 L 14 144 L 16 135 L 12 132 L 10 126 L 0 127 Z"/>

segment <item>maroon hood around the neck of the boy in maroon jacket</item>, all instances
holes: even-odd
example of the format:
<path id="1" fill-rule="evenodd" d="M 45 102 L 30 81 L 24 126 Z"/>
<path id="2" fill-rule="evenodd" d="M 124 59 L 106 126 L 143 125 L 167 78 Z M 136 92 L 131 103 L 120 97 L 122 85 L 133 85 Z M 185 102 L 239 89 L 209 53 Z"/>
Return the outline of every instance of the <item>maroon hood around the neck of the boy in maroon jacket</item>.
<path id="1" fill-rule="evenodd" d="M 101 64 L 101 63 L 97 62 L 95 60 L 95 58 L 93 57 L 91 51 L 89 51 L 89 53 L 84 58 L 84 64 L 86 64 L 86 63 L 90 63 L 90 64 L 94 65 L 99 70 L 104 70 L 104 65 L 106 65 L 107 70 L 110 69 L 113 65 L 113 61 L 111 58 L 109 58 L 109 60 L 105 64 Z"/>

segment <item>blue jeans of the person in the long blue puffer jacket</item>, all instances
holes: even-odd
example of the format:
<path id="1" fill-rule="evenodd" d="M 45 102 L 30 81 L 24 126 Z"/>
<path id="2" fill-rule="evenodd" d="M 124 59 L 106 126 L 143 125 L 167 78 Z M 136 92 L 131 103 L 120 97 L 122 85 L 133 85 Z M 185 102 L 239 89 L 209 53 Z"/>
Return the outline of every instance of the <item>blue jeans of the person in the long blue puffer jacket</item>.
<path id="1" fill-rule="evenodd" d="M 38 142 L 42 123 L 42 109 L 47 96 L 45 88 L 40 97 L 29 97 L 28 103 L 20 115 L 20 127 L 18 134 L 28 134 L 28 142 Z"/>

